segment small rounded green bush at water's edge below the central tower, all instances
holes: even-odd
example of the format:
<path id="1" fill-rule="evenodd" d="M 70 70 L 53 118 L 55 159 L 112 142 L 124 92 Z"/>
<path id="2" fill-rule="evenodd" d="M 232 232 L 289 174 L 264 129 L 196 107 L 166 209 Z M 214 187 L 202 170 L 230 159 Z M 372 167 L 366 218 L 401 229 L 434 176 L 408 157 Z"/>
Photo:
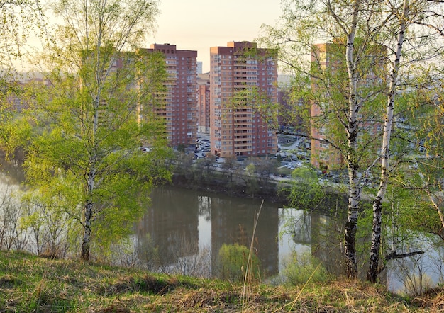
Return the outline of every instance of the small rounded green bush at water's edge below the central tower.
<path id="1" fill-rule="evenodd" d="M 252 273 L 252 278 L 260 277 L 260 261 L 255 254 L 248 264 L 248 248 L 239 244 L 223 244 L 219 249 L 218 266 L 220 266 L 218 276 L 231 282 L 241 282 L 245 278 L 247 267 Z"/>

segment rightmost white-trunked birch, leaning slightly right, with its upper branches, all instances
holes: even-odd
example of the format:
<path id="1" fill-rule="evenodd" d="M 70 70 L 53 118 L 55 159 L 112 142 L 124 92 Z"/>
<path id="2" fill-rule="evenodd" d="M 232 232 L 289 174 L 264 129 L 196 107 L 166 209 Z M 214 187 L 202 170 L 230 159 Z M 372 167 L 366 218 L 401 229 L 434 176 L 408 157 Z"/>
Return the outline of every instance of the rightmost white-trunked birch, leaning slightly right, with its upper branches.
<path id="1" fill-rule="evenodd" d="M 373 200 L 373 222 L 372 222 L 372 246 L 370 249 L 369 269 L 367 271 L 367 280 L 376 283 L 379 275 L 379 255 L 381 254 L 382 241 L 382 207 L 387 185 L 389 183 L 389 173 L 394 171 L 395 166 L 391 166 L 392 159 L 391 144 L 392 132 L 394 129 L 394 116 L 396 109 L 396 100 L 399 98 L 398 86 L 406 84 L 407 81 L 414 81 L 409 89 L 404 89 L 404 93 L 414 93 L 429 89 L 431 86 L 421 86 L 418 82 L 420 76 L 418 73 L 411 72 L 410 68 L 418 69 L 424 62 L 435 61 L 442 55 L 442 42 L 439 42 L 440 35 L 443 34 L 443 13 L 440 7 L 440 1 L 411 1 L 404 0 L 402 5 L 389 2 L 389 9 L 396 16 L 397 23 L 394 24 L 396 41 L 392 45 L 394 57 L 392 67 L 389 72 L 389 85 L 387 87 L 387 106 L 384 120 L 384 131 L 381 147 L 381 173 L 379 188 Z M 397 26 L 396 26 L 397 24 Z M 408 32 L 410 28 L 410 32 Z M 388 30 L 391 33 L 391 30 Z M 404 48 L 404 40 L 407 39 L 408 47 Z M 438 42 L 437 42 L 438 40 Z M 389 43 L 389 42 L 388 42 Z M 405 57 L 405 62 L 402 62 Z M 419 64 L 419 66 L 415 66 Z M 399 72 L 403 70 L 404 79 L 399 79 Z M 410 77 L 409 77 L 410 76 Z M 421 101 L 420 98 L 417 101 Z M 411 135 L 414 135 L 413 133 Z M 440 210 L 436 210 L 440 215 Z M 421 217 L 419 217 L 421 218 Z M 441 217 L 440 217 L 441 218 Z M 411 252 L 416 254 L 417 251 Z M 392 251 L 392 258 L 396 258 L 396 252 Z M 400 254 L 404 257 L 408 254 Z"/>

